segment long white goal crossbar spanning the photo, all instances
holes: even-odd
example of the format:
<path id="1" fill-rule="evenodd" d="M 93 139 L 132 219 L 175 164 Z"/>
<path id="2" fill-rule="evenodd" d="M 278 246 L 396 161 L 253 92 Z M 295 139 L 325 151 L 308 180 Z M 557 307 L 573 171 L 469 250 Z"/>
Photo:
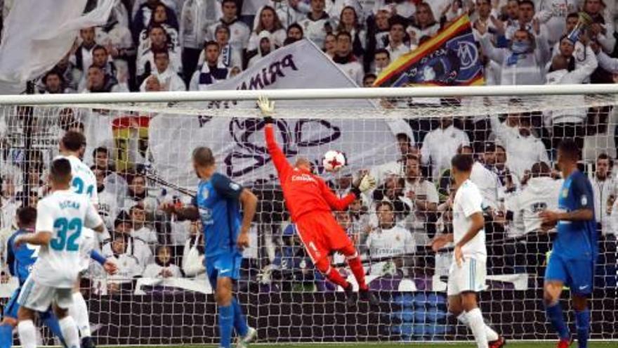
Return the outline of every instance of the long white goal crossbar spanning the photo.
<path id="1" fill-rule="evenodd" d="M 178 103 L 272 100 L 440 98 L 465 96 L 548 96 L 618 94 L 618 84 L 559 84 L 520 86 L 419 86 L 414 88 L 264 89 L 237 91 L 166 91 L 157 93 L 33 94 L 0 96 L 0 105 L 59 105 L 88 103 Z"/>

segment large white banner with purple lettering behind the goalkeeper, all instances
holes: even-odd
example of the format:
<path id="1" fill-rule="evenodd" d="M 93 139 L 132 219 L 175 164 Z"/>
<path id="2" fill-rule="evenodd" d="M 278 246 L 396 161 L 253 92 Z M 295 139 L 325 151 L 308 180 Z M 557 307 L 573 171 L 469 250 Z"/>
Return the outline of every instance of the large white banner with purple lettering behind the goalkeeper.
<path id="1" fill-rule="evenodd" d="M 277 49 L 251 69 L 213 84 L 211 89 L 338 87 L 356 87 L 356 84 L 314 44 L 303 40 Z M 277 102 L 275 118 L 286 116 L 277 119 L 277 138 L 289 160 L 293 162 L 295 157 L 304 156 L 319 164 L 329 149 L 346 153 L 350 162 L 348 170 L 395 160 L 399 151 L 390 128 L 401 131 L 400 124 L 393 126 L 384 120 L 363 119 L 362 115 L 355 115 L 353 119 L 349 115 L 338 118 L 338 109 L 349 107 L 345 103 Z M 353 103 L 355 108 L 367 108 L 367 112 L 375 110 L 369 101 Z M 218 170 L 232 179 L 242 183 L 275 179 L 275 170 L 265 148 L 264 124 L 255 101 L 225 106 L 231 107 L 232 113 L 237 110 L 237 117 L 221 117 L 216 108 L 211 108 L 199 116 L 158 115 L 151 120 L 149 148 L 152 165 L 159 176 L 171 183 L 194 188 L 197 179 L 191 166 L 191 152 L 196 146 L 208 146 L 216 155 Z M 310 112 L 307 108 L 331 108 L 332 118 L 303 118 L 310 116 L 303 113 Z"/>

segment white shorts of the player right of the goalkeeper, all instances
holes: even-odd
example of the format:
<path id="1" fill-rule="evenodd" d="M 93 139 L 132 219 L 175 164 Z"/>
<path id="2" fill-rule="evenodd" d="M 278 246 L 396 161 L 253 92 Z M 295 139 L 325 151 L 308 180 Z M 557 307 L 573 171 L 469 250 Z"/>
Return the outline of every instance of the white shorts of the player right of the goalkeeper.
<path id="1" fill-rule="evenodd" d="M 461 267 L 453 263 L 449 270 L 447 295 L 452 296 L 466 291 L 479 292 L 485 290 L 486 277 L 487 267 L 485 262 L 468 257 L 461 263 Z"/>

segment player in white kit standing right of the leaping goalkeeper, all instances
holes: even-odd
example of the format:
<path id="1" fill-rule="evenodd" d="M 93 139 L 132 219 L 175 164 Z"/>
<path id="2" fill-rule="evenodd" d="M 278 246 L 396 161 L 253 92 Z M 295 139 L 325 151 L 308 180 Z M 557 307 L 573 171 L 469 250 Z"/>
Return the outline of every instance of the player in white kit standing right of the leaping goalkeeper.
<path id="1" fill-rule="evenodd" d="M 479 348 L 498 348 L 505 340 L 485 324 L 476 297 L 477 292 L 485 290 L 487 249 L 482 195 L 470 180 L 473 165 L 471 155 L 456 155 L 451 160 L 451 173 L 457 187 L 453 200 L 453 233 L 434 238 L 432 247 L 438 251 L 448 243 L 455 244 L 447 285 L 449 311 L 471 328 Z"/>

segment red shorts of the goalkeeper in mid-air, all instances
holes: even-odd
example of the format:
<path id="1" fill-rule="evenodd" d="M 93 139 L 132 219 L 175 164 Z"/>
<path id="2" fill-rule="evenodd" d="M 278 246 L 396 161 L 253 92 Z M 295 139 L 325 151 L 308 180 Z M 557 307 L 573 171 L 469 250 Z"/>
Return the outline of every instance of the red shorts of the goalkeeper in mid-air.
<path id="1" fill-rule="evenodd" d="M 314 264 L 331 252 L 353 246 L 350 237 L 330 212 L 303 214 L 296 221 L 296 230 Z"/>

